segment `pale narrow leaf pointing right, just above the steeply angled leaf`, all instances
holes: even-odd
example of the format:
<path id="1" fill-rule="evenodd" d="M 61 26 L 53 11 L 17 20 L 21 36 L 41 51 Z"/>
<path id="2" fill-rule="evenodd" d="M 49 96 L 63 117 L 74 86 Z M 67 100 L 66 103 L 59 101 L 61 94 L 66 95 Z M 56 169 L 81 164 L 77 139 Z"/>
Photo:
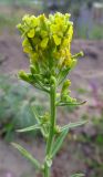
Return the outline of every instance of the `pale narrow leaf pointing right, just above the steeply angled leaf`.
<path id="1" fill-rule="evenodd" d="M 66 128 L 74 128 L 74 127 L 76 127 L 76 126 L 81 126 L 81 125 L 86 124 L 86 123 L 87 123 L 87 121 L 80 121 L 80 122 L 76 122 L 76 123 L 70 123 L 70 124 L 68 124 L 68 125 L 64 125 L 64 126 L 62 127 L 62 131 L 63 131 L 63 129 L 66 129 Z"/>

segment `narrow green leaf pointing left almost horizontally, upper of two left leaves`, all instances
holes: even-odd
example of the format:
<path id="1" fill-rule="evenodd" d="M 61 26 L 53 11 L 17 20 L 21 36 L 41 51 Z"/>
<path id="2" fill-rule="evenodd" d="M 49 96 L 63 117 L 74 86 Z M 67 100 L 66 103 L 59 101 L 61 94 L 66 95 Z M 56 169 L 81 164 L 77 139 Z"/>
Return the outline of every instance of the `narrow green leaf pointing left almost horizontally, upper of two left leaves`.
<path id="1" fill-rule="evenodd" d="M 22 129 L 17 129 L 17 132 L 23 133 L 23 132 L 30 132 L 30 131 L 35 131 L 35 129 L 40 129 L 40 128 L 41 128 L 40 125 L 35 124 L 35 125 L 32 125 L 32 126 L 29 126 L 29 127 L 25 127 Z"/>

